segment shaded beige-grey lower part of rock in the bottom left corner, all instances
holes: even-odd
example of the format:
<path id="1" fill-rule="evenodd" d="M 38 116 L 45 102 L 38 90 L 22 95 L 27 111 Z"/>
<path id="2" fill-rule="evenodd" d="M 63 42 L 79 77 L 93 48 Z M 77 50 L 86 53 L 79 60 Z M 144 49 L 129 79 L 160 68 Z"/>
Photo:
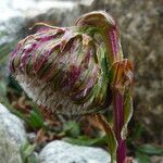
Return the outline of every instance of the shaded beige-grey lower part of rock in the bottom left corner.
<path id="1" fill-rule="evenodd" d="M 0 124 L 0 163 L 22 163 L 18 146 L 9 137 Z"/>

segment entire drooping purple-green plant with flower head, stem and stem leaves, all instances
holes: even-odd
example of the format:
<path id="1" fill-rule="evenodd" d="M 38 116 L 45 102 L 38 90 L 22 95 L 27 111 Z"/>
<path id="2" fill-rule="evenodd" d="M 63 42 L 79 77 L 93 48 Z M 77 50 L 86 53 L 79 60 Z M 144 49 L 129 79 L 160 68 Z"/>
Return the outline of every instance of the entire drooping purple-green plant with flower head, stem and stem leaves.
<path id="1" fill-rule="evenodd" d="M 103 11 L 82 15 L 72 27 L 42 23 L 18 42 L 10 70 L 27 95 L 47 111 L 96 113 L 112 163 L 127 162 L 127 124 L 133 113 L 133 63 L 123 59 L 120 29 Z M 113 104 L 113 125 L 98 111 Z"/>

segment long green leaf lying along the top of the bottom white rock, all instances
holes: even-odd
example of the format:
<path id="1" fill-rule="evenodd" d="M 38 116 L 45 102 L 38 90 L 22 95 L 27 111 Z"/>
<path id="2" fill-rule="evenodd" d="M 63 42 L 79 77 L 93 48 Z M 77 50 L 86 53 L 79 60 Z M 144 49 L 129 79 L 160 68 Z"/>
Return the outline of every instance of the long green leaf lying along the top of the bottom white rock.
<path id="1" fill-rule="evenodd" d="M 87 136 L 80 136 L 78 138 L 64 138 L 63 140 L 78 146 L 103 146 L 106 143 L 106 136 L 100 138 L 88 138 Z"/>

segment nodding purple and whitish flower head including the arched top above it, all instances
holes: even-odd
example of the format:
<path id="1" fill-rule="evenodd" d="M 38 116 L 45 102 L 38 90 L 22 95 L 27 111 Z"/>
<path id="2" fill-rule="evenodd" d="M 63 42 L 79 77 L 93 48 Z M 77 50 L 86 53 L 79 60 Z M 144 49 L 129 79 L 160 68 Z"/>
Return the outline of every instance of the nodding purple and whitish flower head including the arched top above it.
<path id="1" fill-rule="evenodd" d="M 18 42 L 10 70 L 27 95 L 47 110 L 86 114 L 111 102 L 105 40 L 99 29 L 116 28 L 105 12 L 83 15 L 72 27 L 36 24 Z"/>

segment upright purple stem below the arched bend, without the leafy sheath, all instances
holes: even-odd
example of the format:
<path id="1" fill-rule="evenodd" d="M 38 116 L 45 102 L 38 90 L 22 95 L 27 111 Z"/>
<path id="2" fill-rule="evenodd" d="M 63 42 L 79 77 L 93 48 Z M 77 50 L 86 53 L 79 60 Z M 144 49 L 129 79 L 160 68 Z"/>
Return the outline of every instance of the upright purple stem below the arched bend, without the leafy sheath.
<path id="1" fill-rule="evenodd" d="M 108 47 L 110 48 L 111 46 L 111 49 L 109 49 L 111 50 L 110 61 L 112 61 L 112 63 L 120 61 L 122 59 L 122 55 L 120 53 L 121 48 L 118 46 L 118 29 L 116 28 L 116 26 L 114 29 L 109 30 L 109 38 L 106 40 L 109 42 Z M 114 86 L 113 93 L 114 93 L 113 126 L 114 126 L 114 133 L 117 140 L 116 162 L 124 163 L 126 159 L 126 141 L 123 140 L 121 137 L 121 131 L 124 124 L 124 95 L 121 93 L 118 89 L 116 89 L 116 86 Z"/>

